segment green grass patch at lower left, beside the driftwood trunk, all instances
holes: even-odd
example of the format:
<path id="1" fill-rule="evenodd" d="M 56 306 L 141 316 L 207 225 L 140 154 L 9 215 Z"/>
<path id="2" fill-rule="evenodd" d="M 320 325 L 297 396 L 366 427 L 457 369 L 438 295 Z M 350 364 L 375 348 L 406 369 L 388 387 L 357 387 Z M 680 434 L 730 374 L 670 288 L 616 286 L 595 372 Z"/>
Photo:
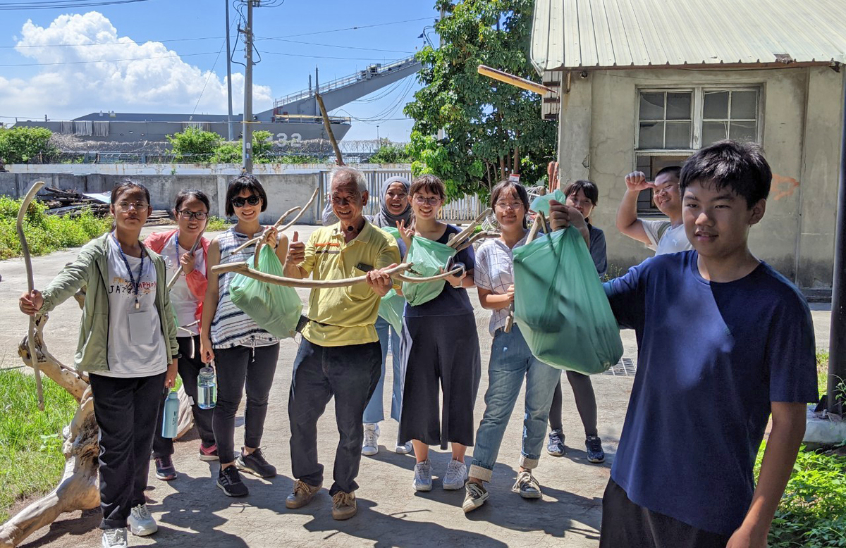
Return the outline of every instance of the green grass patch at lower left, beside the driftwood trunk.
<path id="1" fill-rule="evenodd" d="M 0 523 L 26 496 L 47 493 L 62 477 L 62 429 L 76 400 L 47 377 L 44 412 L 38 410 L 36 379 L 20 370 L 0 371 Z"/>

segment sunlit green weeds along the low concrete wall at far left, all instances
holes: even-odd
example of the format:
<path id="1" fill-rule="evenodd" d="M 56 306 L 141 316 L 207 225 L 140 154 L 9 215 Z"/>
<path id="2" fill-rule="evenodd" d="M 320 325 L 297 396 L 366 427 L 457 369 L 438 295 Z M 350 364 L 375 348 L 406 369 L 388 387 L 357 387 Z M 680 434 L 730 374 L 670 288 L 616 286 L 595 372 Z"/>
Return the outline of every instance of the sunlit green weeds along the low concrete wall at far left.
<path id="1" fill-rule="evenodd" d="M 22 255 L 16 228 L 18 210 L 23 200 L 0 196 L 0 260 Z M 31 255 L 47 255 L 57 249 L 87 244 L 112 227 L 112 219 L 96 217 L 90 210 L 79 216 L 47 215 L 47 206 L 30 204 L 24 220 L 24 234 Z"/>

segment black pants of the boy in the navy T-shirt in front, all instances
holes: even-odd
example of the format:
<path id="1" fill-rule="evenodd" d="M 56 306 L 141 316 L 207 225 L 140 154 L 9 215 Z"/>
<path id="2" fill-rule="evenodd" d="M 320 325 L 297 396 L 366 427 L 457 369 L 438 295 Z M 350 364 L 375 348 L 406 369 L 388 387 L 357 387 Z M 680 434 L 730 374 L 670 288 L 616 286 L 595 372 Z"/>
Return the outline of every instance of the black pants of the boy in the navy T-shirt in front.
<path id="1" fill-rule="evenodd" d="M 640 507 L 613 479 L 608 480 L 599 548 L 726 548 L 728 538 Z"/>

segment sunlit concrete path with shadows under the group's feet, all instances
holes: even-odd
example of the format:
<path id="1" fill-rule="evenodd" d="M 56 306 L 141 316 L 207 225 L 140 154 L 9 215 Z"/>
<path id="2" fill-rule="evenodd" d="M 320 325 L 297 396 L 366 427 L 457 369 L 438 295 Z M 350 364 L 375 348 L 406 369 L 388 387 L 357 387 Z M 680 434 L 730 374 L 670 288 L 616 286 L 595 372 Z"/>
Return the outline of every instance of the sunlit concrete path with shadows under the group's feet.
<path id="1" fill-rule="evenodd" d="M 157 227 L 162 230 L 162 227 Z M 305 239 L 313 227 L 299 227 Z M 289 234 L 293 234 L 293 231 Z M 39 257 L 34 260 L 36 287 L 43 288 L 66 262 L 73 260 L 75 250 Z M 17 309 L 17 298 L 25 290 L 25 271 L 21 260 L 0 262 L 0 317 L 7 318 L 6 329 L 0 332 L 0 367 L 19 365 L 17 345 L 25 332 L 25 317 Z M 476 323 L 481 340 L 483 368 L 486 370 L 491 337 L 487 332 L 489 313 L 478 305 L 475 292 Z M 301 292 L 306 299 L 306 293 Z M 816 307 L 821 308 L 821 307 Z M 827 346 L 825 310 L 814 312 L 820 342 Z M 75 303 L 63 304 L 51 314 L 47 344 L 58 359 L 71 363 L 79 329 L 79 308 Z M 823 325 L 824 324 L 824 325 Z M 824 332 L 821 330 L 825 329 Z M 624 332 L 625 355 L 636 358 L 634 333 Z M 572 392 L 564 381 L 563 419 L 568 452 L 563 458 L 546 454 L 541 458 L 536 477 L 541 481 L 543 498 L 525 501 L 511 492 L 516 477 L 522 435 L 523 397 L 508 424 L 497 468 L 489 486 L 491 498 L 481 509 L 465 515 L 461 511 L 464 491 L 441 488 L 449 455 L 431 453 L 434 489 L 415 493 L 411 479 L 415 460 L 411 455 L 393 452 L 397 423 L 382 422 L 380 452 L 361 461 L 357 491 L 358 515 L 347 522 L 332 519 L 331 484 L 334 448 L 338 431 L 334 425 L 334 408 L 327 407 L 319 428 L 321 463 L 326 466 L 326 487 L 315 501 L 305 508 L 285 508 L 285 496 L 292 489 L 288 439 L 288 387 L 297 350 L 293 340 L 283 341 L 276 377 L 270 398 L 265 435 L 268 460 L 277 466 L 279 475 L 272 480 L 245 476 L 250 496 L 232 499 L 217 489 L 217 463 L 204 463 L 196 458 L 199 441 L 192 431 L 176 443 L 174 463 L 179 478 L 163 482 L 155 478 L 151 466 L 147 496 L 151 512 L 159 523 L 159 532 L 147 538 L 130 537 L 129 545 L 198 546 L 202 548 L 240 546 L 564 546 L 595 548 L 602 517 L 602 491 L 613 462 L 632 377 L 595 375 L 593 384 L 599 405 L 599 430 L 607 453 L 602 465 L 588 463 L 585 455 L 584 430 L 576 412 Z M 389 358 L 390 359 L 390 358 Z M 387 367 L 390 376 L 392 368 Z M 385 386 L 391 386 L 387 379 Z M 484 411 L 483 396 L 487 376 L 482 375 L 479 397 L 475 403 L 475 422 Z M 35 397 L 35 395 L 33 395 Z M 385 408 L 390 408 L 391 394 L 383 394 Z M 243 408 L 239 412 L 236 444 L 243 439 Z M 472 449 L 468 457 L 471 458 Z M 22 507 L 23 503 L 19 505 Z M 13 512 L 14 513 L 14 512 Z M 24 545 L 28 547 L 78 548 L 99 545 L 99 510 L 64 514 L 52 527 L 41 529 Z"/>

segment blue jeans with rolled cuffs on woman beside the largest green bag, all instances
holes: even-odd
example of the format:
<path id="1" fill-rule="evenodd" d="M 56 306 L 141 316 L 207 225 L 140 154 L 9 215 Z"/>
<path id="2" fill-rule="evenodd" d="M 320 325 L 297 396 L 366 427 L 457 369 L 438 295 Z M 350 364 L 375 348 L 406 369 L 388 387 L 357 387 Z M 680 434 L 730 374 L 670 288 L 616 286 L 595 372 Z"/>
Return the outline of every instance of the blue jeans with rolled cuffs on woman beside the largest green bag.
<path id="1" fill-rule="evenodd" d="M 476 431 L 470 476 L 490 481 L 497 462 L 505 427 L 514 410 L 514 403 L 526 380 L 525 414 L 523 416 L 523 450 L 520 466 L 534 469 L 541 458 L 547 437 L 547 417 L 552 393 L 561 379 L 561 370 L 550 367 L 531 354 L 519 326 L 510 333 L 497 329 L 491 346 L 491 363 L 487 368 L 485 415 Z"/>

